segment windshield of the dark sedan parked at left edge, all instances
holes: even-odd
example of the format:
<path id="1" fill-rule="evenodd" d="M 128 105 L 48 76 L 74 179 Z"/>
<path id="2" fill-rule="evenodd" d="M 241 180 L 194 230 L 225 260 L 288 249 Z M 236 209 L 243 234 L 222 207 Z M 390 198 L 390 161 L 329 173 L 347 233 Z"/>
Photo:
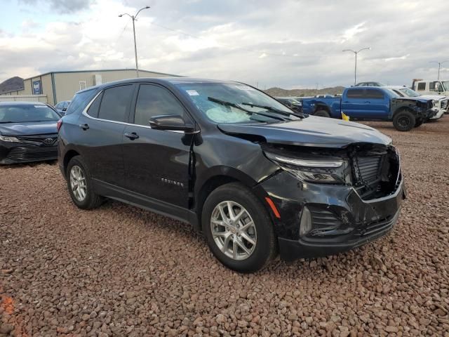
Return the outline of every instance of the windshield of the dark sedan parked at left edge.
<path id="1" fill-rule="evenodd" d="M 60 115 L 46 105 L 0 105 L 0 123 L 58 121 Z"/>

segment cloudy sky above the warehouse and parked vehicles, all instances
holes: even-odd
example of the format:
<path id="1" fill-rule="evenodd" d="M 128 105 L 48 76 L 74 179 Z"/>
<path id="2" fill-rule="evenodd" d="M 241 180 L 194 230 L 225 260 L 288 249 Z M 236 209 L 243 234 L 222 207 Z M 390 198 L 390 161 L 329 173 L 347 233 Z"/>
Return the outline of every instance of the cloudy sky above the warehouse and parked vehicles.
<path id="1" fill-rule="evenodd" d="M 140 68 L 260 88 L 434 79 L 449 60 L 449 1 L 1 0 L 0 81 L 58 70 Z M 441 77 L 449 78 L 449 62 Z"/>

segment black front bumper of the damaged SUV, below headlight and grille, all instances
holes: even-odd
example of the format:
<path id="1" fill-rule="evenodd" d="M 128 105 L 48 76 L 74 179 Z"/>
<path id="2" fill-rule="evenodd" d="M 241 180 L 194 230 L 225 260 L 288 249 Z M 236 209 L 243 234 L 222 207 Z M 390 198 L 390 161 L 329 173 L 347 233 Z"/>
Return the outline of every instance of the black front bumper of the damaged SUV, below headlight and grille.
<path id="1" fill-rule="evenodd" d="M 368 201 L 352 187 L 301 183 L 286 172 L 265 180 L 262 187 L 281 214 L 275 231 L 283 260 L 328 256 L 384 236 L 397 222 L 406 197 L 402 178 L 393 193 Z M 305 208 L 313 230 L 300 236 Z"/>

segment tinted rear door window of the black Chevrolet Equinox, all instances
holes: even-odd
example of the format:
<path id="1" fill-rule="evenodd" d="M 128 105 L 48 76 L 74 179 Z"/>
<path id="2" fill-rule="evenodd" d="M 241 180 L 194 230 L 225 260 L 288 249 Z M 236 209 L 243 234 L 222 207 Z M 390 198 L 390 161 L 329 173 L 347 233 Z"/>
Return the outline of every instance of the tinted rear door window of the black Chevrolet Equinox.
<path id="1" fill-rule="evenodd" d="M 108 121 L 126 121 L 126 109 L 133 95 L 133 86 L 114 86 L 106 89 L 100 104 L 98 118 Z"/>

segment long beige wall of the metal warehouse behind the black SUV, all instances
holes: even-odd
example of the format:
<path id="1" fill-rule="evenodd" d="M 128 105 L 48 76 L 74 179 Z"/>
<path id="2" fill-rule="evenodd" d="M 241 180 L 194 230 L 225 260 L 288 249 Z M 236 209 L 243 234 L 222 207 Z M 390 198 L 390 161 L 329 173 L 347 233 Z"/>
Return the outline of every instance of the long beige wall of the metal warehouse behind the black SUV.
<path id="1" fill-rule="evenodd" d="M 71 100 L 74 93 L 80 90 L 80 81 L 86 81 L 86 88 L 97 85 L 94 83 L 95 74 L 101 75 L 102 83 L 111 81 L 118 81 L 119 79 L 133 79 L 135 77 L 135 70 L 105 70 L 105 71 L 93 71 L 93 72 L 55 72 L 53 76 L 55 78 L 55 93 L 56 102 L 61 100 Z M 157 72 L 147 72 L 145 70 L 139 70 L 140 77 L 170 77 L 173 75 L 159 74 Z M 43 84 L 43 88 L 45 85 Z M 44 89 L 45 90 L 45 89 Z M 44 93 L 46 93 L 44 91 Z M 48 93 L 47 93 L 48 94 Z M 53 102 L 53 94 L 48 96 L 48 102 Z"/>

